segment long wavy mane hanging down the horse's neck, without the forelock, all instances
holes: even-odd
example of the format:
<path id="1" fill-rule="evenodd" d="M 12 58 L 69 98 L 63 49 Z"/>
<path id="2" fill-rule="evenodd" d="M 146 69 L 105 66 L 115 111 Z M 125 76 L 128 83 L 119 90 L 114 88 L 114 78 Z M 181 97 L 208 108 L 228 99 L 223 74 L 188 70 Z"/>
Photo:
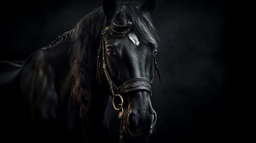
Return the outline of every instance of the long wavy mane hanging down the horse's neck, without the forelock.
<path id="1" fill-rule="evenodd" d="M 102 7 L 94 9 L 82 18 L 71 35 L 70 66 L 74 78 L 72 96 L 80 107 L 80 116 L 87 114 L 91 100 L 91 84 L 96 73 L 96 54 L 105 15 Z"/>

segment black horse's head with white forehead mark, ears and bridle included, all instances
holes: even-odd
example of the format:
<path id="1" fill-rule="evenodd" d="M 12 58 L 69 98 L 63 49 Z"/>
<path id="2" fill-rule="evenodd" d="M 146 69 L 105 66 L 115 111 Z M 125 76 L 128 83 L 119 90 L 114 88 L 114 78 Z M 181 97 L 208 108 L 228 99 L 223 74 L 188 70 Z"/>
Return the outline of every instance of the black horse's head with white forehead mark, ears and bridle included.
<path id="1" fill-rule="evenodd" d="M 154 6 L 155 0 L 147 0 L 142 6 L 103 2 L 106 18 L 98 53 L 98 78 L 101 84 L 109 85 L 123 131 L 133 137 L 149 136 L 156 122 L 151 105 L 159 39 L 151 22 Z"/>

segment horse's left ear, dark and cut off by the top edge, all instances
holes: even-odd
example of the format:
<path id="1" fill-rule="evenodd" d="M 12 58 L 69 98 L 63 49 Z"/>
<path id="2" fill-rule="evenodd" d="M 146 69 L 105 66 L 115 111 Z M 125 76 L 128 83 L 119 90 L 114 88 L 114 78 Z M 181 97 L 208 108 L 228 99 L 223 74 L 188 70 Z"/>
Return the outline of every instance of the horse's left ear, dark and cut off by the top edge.
<path id="1" fill-rule="evenodd" d="M 105 13 L 105 16 L 107 17 L 107 21 L 109 21 L 112 18 L 116 6 L 116 0 L 103 0 L 103 11 Z"/>

